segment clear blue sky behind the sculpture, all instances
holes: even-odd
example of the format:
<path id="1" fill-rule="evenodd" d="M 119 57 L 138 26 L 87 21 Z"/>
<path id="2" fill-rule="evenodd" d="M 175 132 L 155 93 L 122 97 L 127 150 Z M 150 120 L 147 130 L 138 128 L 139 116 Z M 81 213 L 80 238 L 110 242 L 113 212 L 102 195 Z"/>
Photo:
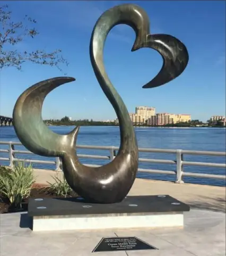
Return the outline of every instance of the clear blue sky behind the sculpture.
<path id="1" fill-rule="evenodd" d="M 105 120 L 116 114 L 95 79 L 89 57 L 90 36 L 101 13 L 128 1 L 5 1 L 14 21 L 25 14 L 37 20 L 40 35 L 27 39 L 21 51 L 62 49 L 75 82 L 51 92 L 44 102 L 44 119 Z M 1 5 L 4 1 L 1 2 Z M 152 49 L 131 52 L 132 28 L 119 25 L 107 38 L 106 70 L 129 112 L 135 106 L 154 106 L 157 112 L 188 113 L 206 121 L 225 114 L 225 1 L 133 1 L 143 7 L 151 21 L 151 34 L 170 34 L 188 49 L 189 63 L 182 75 L 166 85 L 143 89 L 159 72 L 162 58 Z M 12 116 L 18 96 L 38 81 L 64 75 L 56 68 L 27 63 L 22 71 L 0 72 L 0 114 Z"/>

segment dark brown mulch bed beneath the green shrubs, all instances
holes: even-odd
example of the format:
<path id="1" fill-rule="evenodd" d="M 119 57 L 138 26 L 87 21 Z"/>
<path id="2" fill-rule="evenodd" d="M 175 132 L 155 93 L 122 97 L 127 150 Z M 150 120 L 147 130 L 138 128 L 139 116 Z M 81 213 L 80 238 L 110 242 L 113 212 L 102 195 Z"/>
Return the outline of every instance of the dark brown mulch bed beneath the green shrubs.
<path id="1" fill-rule="evenodd" d="M 76 197 L 77 195 L 73 195 L 73 196 Z M 56 194 L 51 193 L 50 191 L 48 191 L 48 186 L 46 186 L 44 184 L 34 184 L 31 189 L 30 196 L 27 199 L 23 200 L 22 209 L 20 209 L 20 210 L 11 209 L 10 203 L 8 202 L 8 200 L 0 195 L 0 214 L 1 213 L 27 211 L 28 210 L 28 200 L 31 197 L 32 198 L 40 198 L 40 197 L 41 198 L 43 198 L 43 197 L 54 198 L 54 197 L 64 197 L 64 196 L 57 196 Z M 68 195 L 67 197 L 71 197 L 71 196 Z"/>

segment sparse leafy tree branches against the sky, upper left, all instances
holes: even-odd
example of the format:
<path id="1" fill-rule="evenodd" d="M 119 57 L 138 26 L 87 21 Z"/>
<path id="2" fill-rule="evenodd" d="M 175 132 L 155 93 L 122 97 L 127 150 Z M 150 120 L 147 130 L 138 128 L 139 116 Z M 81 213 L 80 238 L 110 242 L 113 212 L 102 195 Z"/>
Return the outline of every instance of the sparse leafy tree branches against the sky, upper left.
<path id="1" fill-rule="evenodd" d="M 46 52 L 44 49 L 35 51 L 19 51 L 16 47 L 25 38 L 34 38 L 39 35 L 35 28 L 37 21 L 25 15 L 23 21 L 12 21 L 11 11 L 8 6 L 0 6 L 0 70 L 4 67 L 14 67 L 21 70 L 22 64 L 30 61 L 37 64 L 50 65 L 62 69 L 59 64 L 68 62 L 60 55 L 61 50 L 55 49 L 53 52 Z M 27 26 L 26 24 L 29 24 Z"/>

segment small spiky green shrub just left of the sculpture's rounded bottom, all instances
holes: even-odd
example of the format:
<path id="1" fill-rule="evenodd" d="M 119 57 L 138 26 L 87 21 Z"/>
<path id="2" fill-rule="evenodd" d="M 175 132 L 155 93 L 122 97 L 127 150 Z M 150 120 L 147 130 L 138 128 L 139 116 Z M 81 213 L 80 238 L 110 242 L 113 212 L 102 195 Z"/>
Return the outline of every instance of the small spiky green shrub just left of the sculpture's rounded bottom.
<path id="1" fill-rule="evenodd" d="M 75 192 L 72 190 L 72 188 L 68 185 L 64 175 L 63 179 L 59 178 L 58 175 L 51 176 L 54 179 L 54 183 L 49 183 L 48 191 L 50 193 L 56 194 L 57 196 L 64 196 L 64 197 L 71 197 L 75 195 Z"/>

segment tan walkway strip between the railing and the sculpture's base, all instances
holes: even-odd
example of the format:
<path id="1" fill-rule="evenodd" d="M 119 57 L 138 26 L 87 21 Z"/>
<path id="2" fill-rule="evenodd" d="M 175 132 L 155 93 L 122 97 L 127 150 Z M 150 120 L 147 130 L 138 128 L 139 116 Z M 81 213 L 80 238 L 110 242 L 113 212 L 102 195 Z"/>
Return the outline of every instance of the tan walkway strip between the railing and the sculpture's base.
<path id="1" fill-rule="evenodd" d="M 54 182 L 62 172 L 36 169 L 37 183 Z M 225 212 L 225 187 L 175 184 L 169 181 L 136 179 L 129 195 L 170 195 L 196 209 Z"/>

